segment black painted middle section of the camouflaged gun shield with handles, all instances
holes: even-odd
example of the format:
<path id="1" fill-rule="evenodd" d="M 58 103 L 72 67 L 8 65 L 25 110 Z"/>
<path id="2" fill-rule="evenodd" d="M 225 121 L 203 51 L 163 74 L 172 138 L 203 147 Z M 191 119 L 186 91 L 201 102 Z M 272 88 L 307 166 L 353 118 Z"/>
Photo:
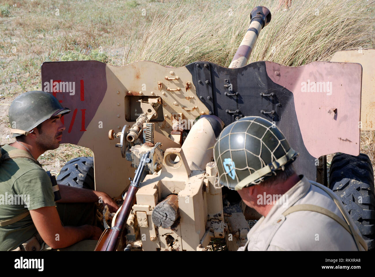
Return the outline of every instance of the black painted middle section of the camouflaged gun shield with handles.
<path id="1" fill-rule="evenodd" d="M 199 64 L 199 67 L 196 66 Z M 202 65 L 207 64 L 206 68 Z M 197 62 L 186 66 L 193 78 L 197 96 L 209 111 L 219 116 L 225 125 L 232 123 L 236 117 L 261 116 L 275 121 L 276 126 L 284 133 L 291 147 L 300 153 L 293 163 L 298 174 L 304 174 L 308 179 L 316 180 L 317 169 L 315 158 L 307 151 L 299 128 L 293 93 L 285 87 L 274 83 L 267 75 L 266 64 L 255 62 L 242 68 L 223 68 L 214 63 Z M 210 72 L 210 83 L 202 78 Z M 202 83 L 198 83 L 202 80 Z M 228 82 L 229 80 L 229 82 Z M 229 90 L 231 84 L 232 90 Z M 227 85 L 227 86 L 224 86 Z M 236 94 L 237 95 L 226 95 Z M 261 96 L 274 93 L 273 96 Z M 212 97 L 212 102 L 209 97 Z M 208 98 L 207 98 L 208 97 Z M 273 114 L 264 114 L 261 111 Z"/>

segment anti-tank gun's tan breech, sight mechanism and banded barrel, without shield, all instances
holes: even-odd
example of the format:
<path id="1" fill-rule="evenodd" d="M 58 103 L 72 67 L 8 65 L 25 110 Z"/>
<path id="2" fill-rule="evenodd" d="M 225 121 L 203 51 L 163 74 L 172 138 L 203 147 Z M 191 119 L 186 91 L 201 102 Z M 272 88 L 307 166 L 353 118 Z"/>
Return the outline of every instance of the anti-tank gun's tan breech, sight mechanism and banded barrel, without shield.
<path id="1" fill-rule="evenodd" d="M 266 8 L 254 9 L 249 30 L 230 68 L 246 65 L 257 34 L 269 23 L 270 17 Z M 208 67 L 207 63 L 202 65 L 202 68 Z M 172 76 L 166 76 L 165 80 L 182 80 L 182 77 L 175 75 L 175 72 L 171 71 L 169 74 Z M 207 79 L 205 84 L 210 84 L 210 76 L 205 77 Z M 186 92 L 190 89 L 191 83 L 186 82 Z M 202 81 L 199 80 L 198 83 Z M 158 81 L 157 84 L 162 90 L 163 83 Z M 180 91 L 181 89 L 177 87 L 171 90 L 167 86 L 166 90 Z M 162 95 L 165 95 L 165 92 L 162 92 Z M 201 96 L 200 99 L 202 98 Z M 142 114 L 129 131 L 126 132 L 128 125 L 125 125 L 121 134 L 116 135 L 121 140 L 121 143 L 116 145 L 121 147 L 121 153 L 124 152 L 124 138 L 126 137 L 127 149 L 130 150 L 125 152 L 125 157 L 132 162 L 133 167 L 136 167 L 145 152 L 151 151 L 150 159 L 153 160 L 150 163 L 151 167 L 153 165 L 150 173 L 154 174 L 145 177 L 136 194 L 136 204 L 133 205 L 132 215 L 128 220 L 126 240 L 136 243 L 139 233 L 142 250 L 204 250 L 211 238 L 224 238 L 227 229 L 224 222 L 221 188 L 214 187 L 215 174 L 211 150 L 224 123 L 219 117 L 211 115 L 211 111 L 208 115 L 205 115 L 205 111 L 201 111 L 199 120 L 192 125 L 191 129 L 188 128 L 189 134 L 183 140 L 184 128 L 181 126 L 183 114 L 171 113 L 173 129 L 169 137 L 178 144 L 183 143 L 181 148 L 167 148 L 161 160 L 162 144 L 157 143 L 159 147 L 155 152 L 153 137 L 155 123 L 149 123 L 151 118 L 157 117 L 156 111 L 149 109 L 151 101 L 160 104 L 160 98 L 157 99 L 155 101 L 155 99 L 148 98 L 148 106 L 146 102 L 138 100 L 141 103 Z M 185 95 L 185 99 L 194 99 L 194 96 Z M 210 97 L 207 99 L 210 100 Z M 173 104 L 177 106 L 178 102 Z M 198 107 L 183 107 L 183 110 L 193 111 L 196 108 Z M 148 117 L 146 117 L 147 114 Z M 164 114 L 164 117 L 168 117 L 168 114 Z M 142 129 L 144 129 L 144 143 L 140 143 L 139 140 L 136 143 L 135 140 L 141 134 Z M 112 134 L 113 130 L 110 131 L 110 139 L 113 139 Z M 131 146 L 130 143 L 134 145 Z M 159 168 L 161 169 L 157 172 Z M 135 226 L 135 223 L 138 223 L 138 226 Z M 241 223 L 245 226 L 244 229 L 248 230 L 246 221 Z M 137 232 L 138 229 L 139 232 Z M 142 239 L 142 235 L 145 235 L 145 239 Z"/>

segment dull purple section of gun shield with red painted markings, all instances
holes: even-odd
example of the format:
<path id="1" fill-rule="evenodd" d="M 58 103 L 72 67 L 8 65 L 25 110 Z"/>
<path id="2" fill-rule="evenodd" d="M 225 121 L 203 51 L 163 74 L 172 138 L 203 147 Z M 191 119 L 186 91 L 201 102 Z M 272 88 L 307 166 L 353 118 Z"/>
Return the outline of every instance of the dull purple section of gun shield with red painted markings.
<path id="1" fill-rule="evenodd" d="M 71 109 L 63 116 L 66 131 L 61 143 L 78 144 L 95 116 L 107 90 L 105 66 L 98 61 L 42 64 L 43 90 L 52 93 L 63 107 Z M 68 87 L 62 86 L 60 90 L 60 86 L 56 86 L 62 82 L 69 84 L 69 91 Z"/>

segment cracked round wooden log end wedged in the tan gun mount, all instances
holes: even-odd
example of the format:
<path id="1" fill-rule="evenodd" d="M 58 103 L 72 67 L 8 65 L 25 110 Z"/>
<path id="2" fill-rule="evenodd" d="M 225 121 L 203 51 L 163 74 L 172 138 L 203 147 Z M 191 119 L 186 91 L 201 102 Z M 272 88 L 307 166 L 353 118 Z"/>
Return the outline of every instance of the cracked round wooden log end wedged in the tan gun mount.
<path id="1" fill-rule="evenodd" d="M 175 194 L 169 194 L 159 202 L 152 211 L 151 219 L 157 227 L 169 228 L 178 218 L 178 198 Z"/>

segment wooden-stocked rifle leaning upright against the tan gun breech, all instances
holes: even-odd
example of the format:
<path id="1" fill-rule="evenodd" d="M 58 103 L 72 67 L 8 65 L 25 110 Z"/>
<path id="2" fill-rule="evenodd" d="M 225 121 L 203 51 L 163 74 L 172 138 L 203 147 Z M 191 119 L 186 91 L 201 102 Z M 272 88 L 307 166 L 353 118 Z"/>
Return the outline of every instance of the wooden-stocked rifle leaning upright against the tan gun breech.
<path id="1" fill-rule="evenodd" d="M 118 243 L 120 242 L 121 235 L 123 233 L 125 223 L 129 217 L 130 210 L 132 209 L 133 203 L 135 201 L 135 194 L 138 191 L 139 185 L 141 183 L 141 178 L 145 167 L 151 162 L 150 151 L 147 154 L 143 154 L 138 168 L 135 171 L 135 176 L 130 183 L 130 188 L 127 191 L 124 203 L 121 206 L 121 210 L 116 217 L 114 226 L 107 228 L 102 233 L 98 244 L 95 247 L 95 251 L 116 251 Z"/>

